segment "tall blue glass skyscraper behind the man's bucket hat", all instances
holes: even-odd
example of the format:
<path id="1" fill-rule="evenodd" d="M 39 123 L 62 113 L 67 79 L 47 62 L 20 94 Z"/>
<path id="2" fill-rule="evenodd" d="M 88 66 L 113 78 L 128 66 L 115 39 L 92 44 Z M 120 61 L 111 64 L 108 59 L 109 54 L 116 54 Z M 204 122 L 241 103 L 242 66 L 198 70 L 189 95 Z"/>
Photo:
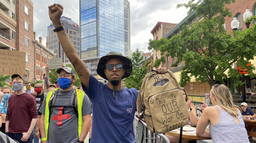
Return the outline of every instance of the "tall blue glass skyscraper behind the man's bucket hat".
<path id="1" fill-rule="evenodd" d="M 91 65 L 91 74 L 99 80 L 100 57 L 110 51 L 129 56 L 129 5 L 128 0 L 80 0 L 81 59 Z"/>

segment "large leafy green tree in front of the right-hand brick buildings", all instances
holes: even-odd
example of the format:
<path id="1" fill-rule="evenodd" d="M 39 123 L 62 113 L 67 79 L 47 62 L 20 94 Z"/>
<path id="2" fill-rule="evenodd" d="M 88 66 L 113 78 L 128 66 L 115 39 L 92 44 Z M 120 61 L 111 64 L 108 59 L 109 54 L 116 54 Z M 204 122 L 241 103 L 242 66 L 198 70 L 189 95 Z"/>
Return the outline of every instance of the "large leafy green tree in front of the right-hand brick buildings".
<path id="1" fill-rule="evenodd" d="M 196 78 L 196 81 L 208 82 L 210 87 L 215 84 L 216 80 L 222 82 L 227 77 L 239 79 L 242 75 L 233 68 L 235 62 L 238 62 L 242 69 L 247 68 L 251 78 L 256 77 L 253 73 L 255 66 L 246 66 L 256 55 L 256 25 L 244 31 L 227 33 L 223 26 L 225 17 L 231 17 L 232 14 L 225 4 L 230 4 L 234 0 L 193 2 L 194 0 L 191 0 L 187 4 L 178 4 L 177 7 L 189 7 L 188 14 L 196 10 L 196 16 L 202 15 L 203 21 L 196 22 L 190 28 L 186 25 L 182 26 L 182 32 L 170 39 L 161 38 L 159 41 L 150 39 L 148 49 L 158 47 L 161 55 L 167 51 L 165 57 L 177 57 L 172 67 L 185 61 L 181 72 L 181 86 L 190 82 L 192 76 Z M 254 19 L 255 16 L 246 21 Z M 158 62 L 154 63 L 154 67 L 160 62 L 165 63 L 165 57 L 156 60 Z M 236 86 L 242 84 L 240 80 L 237 81 Z"/>

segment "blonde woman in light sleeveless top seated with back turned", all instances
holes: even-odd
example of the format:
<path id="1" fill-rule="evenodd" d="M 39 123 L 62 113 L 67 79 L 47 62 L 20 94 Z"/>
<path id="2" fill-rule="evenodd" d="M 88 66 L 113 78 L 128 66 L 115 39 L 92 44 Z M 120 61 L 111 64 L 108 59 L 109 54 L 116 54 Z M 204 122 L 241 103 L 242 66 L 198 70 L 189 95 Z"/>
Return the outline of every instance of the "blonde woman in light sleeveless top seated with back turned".
<path id="1" fill-rule="evenodd" d="M 197 136 L 211 137 L 214 143 L 250 143 L 240 108 L 233 105 L 232 95 L 227 86 L 213 85 L 210 99 L 214 106 L 203 110 L 197 124 Z M 209 123 L 208 131 L 205 129 Z"/>

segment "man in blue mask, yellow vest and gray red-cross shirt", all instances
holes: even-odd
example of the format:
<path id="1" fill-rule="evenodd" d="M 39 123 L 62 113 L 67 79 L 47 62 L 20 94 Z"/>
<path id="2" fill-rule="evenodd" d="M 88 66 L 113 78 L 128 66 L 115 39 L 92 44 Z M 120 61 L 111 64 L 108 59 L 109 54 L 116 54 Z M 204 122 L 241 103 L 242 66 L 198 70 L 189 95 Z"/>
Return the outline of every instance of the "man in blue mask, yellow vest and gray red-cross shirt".
<path id="1" fill-rule="evenodd" d="M 49 109 L 49 104 L 46 105 L 47 99 L 49 101 L 48 94 L 44 97 L 44 101 L 39 109 L 39 112 L 42 113 L 40 120 L 40 132 L 42 143 L 83 143 L 85 137 L 88 133 L 91 124 L 91 104 L 87 95 L 84 95 L 82 100 L 82 120 L 83 125 L 79 130 L 79 115 L 74 114 L 71 107 L 71 98 L 73 96 L 77 96 L 77 94 L 83 93 L 80 90 L 73 89 L 72 84 L 75 80 L 74 71 L 70 67 L 58 68 L 58 82 L 60 89 L 55 94 L 56 99 L 51 98 L 53 100 L 52 113 L 51 109 Z M 81 99 L 80 99 L 81 100 Z M 79 113 L 78 103 L 79 99 L 75 100 L 75 107 Z M 46 108 L 49 109 L 48 112 Z M 50 115 L 49 112 L 51 113 Z M 48 130 L 45 129 L 45 117 L 49 117 L 48 122 Z M 80 136 L 79 136 L 80 135 Z M 47 136 L 47 138 L 46 138 Z M 46 141 L 47 140 L 47 141 Z"/>

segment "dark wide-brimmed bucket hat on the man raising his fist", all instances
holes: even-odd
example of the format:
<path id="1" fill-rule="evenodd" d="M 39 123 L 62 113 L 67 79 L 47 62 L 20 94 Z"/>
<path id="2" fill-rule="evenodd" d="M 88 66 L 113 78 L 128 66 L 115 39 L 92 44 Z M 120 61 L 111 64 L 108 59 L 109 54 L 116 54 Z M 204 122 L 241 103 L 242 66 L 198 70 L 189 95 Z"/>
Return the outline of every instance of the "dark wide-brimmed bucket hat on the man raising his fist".
<path id="1" fill-rule="evenodd" d="M 104 69 L 105 69 L 106 62 L 112 58 L 118 58 L 121 61 L 123 61 L 123 63 L 124 63 L 125 74 L 122 77 L 122 79 L 129 77 L 132 72 L 132 62 L 130 59 L 124 57 L 121 53 L 118 53 L 118 52 L 109 52 L 108 54 L 106 54 L 105 56 L 100 58 L 100 61 L 98 63 L 98 67 L 97 67 L 98 75 L 100 75 L 102 78 L 108 80 L 108 78 L 106 77 L 106 75 L 104 73 Z"/>

